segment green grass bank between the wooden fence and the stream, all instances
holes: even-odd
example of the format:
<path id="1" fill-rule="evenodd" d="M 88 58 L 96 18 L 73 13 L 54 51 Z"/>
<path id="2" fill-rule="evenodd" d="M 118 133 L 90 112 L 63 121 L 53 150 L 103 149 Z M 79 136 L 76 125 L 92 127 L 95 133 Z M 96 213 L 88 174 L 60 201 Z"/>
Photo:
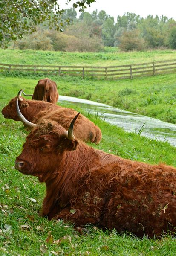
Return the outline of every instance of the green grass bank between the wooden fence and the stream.
<path id="1" fill-rule="evenodd" d="M 10 100 L 21 88 L 32 93 L 39 79 L 45 76 L 14 74 L 0 76 L 0 90 Z M 124 79 L 117 81 L 91 80 L 74 77 L 49 76 L 56 81 L 61 95 L 74 96 L 122 108 L 165 122 L 176 123 L 175 74 Z M 12 93 L 11 87 L 15 90 Z"/>

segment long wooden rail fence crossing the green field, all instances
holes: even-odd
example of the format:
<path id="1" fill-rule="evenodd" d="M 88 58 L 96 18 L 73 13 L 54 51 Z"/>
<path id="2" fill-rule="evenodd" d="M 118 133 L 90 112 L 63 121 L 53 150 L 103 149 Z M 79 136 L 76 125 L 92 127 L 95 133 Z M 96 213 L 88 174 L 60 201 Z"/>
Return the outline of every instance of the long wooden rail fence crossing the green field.
<path id="1" fill-rule="evenodd" d="M 27 71 L 45 72 L 47 75 L 58 76 L 94 76 L 104 79 L 125 79 L 137 76 L 154 76 L 160 73 L 176 72 L 176 60 L 147 62 L 131 65 L 119 65 L 109 67 L 93 66 L 46 66 L 46 65 L 18 65 L 0 64 L 0 72 L 3 71 Z"/>

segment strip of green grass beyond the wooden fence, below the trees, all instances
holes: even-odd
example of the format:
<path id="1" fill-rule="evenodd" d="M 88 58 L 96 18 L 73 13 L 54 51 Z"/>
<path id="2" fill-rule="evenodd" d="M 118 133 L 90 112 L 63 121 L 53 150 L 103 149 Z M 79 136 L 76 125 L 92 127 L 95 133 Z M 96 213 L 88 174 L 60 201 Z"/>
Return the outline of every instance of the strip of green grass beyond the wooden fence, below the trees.
<path id="1" fill-rule="evenodd" d="M 94 53 L 0 49 L 0 63 L 6 64 L 112 66 L 170 59 L 176 59 L 175 50 L 120 52 L 118 48 L 105 47 L 104 52 Z"/>

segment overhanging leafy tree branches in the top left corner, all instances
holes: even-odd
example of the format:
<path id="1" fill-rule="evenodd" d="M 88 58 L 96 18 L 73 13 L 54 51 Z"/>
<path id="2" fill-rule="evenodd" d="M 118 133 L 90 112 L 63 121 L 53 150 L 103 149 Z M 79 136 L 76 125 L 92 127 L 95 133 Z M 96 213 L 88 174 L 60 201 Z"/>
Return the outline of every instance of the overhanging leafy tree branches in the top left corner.
<path id="1" fill-rule="evenodd" d="M 95 0 L 76 1 L 73 8 L 83 11 Z M 36 31 L 36 25 L 48 21 L 49 28 L 63 30 L 69 19 L 62 19 L 64 10 L 57 0 L 2 0 L 0 1 L 0 47 L 6 48 L 8 42 L 22 38 L 28 32 Z"/>

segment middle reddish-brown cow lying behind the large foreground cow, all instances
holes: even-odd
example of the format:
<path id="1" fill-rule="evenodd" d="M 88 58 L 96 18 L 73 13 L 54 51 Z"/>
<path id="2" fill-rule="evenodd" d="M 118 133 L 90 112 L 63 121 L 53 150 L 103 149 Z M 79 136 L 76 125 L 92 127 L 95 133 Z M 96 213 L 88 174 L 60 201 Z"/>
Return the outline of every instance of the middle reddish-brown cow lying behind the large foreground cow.
<path id="1" fill-rule="evenodd" d="M 41 118 L 52 119 L 68 130 L 70 122 L 78 113 L 72 108 L 63 108 L 49 102 L 26 100 L 21 96 L 21 93 L 22 90 L 20 90 L 17 96 L 18 104 L 21 113 L 29 122 L 38 122 L 38 119 Z M 5 118 L 20 121 L 16 110 L 16 97 L 11 99 L 9 104 L 3 108 L 2 114 Z M 97 125 L 80 114 L 75 125 L 75 136 L 79 140 L 98 144 L 102 134 Z"/>

